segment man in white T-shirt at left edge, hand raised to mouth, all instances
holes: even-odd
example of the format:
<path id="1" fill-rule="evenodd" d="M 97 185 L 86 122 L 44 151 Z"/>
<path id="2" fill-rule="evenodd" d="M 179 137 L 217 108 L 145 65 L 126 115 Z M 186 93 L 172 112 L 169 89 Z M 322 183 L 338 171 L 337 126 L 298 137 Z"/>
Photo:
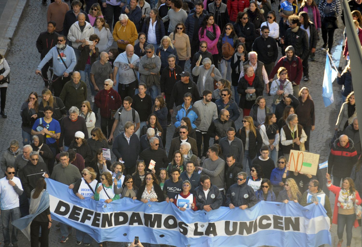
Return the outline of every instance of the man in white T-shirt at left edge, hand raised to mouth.
<path id="1" fill-rule="evenodd" d="M 23 193 L 20 179 L 15 177 L 15 169 L 12 166 L 6 168 L 5 177 L 0 179 L 0 208 L 1 221 L 3 222 L 4 246 L 10 244 L 9 225 L 20 218 L 19 196 Z M 10 221 L 11 217 L 11 221 Z M 11 242 L 14 247 L 18 244 L 18 229 L 13 227 Z"/>

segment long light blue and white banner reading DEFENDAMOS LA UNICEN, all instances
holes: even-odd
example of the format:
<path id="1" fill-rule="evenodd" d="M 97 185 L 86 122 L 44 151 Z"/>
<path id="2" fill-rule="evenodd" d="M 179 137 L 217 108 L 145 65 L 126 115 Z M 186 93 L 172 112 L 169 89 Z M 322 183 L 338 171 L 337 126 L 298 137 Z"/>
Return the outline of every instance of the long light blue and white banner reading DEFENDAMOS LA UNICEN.
<path id="1" fill-rule="evenodd" d="M 329 218 L 320 204 L 302 207 L 294 202 L 261 201 L 246 210 L 221 207 L 182 212 L 167 202 L 80 200 L 66 185 L 46 182 L 52 218 L 97 242 L 131 242 L 139 236 L 141 242 L 177 247 L 331 244 Z"/>

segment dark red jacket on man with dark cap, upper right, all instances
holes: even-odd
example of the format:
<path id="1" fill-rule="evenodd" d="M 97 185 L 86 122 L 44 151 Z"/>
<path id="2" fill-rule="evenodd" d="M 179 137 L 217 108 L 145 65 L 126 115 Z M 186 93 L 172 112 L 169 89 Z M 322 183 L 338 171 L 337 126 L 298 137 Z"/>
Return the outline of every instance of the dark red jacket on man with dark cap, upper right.
<path id="1" fill-rule="evenodd" d="M 288 61 L 287 56 L 282 56 L 270 72 L 269 80 L 274 78 L 274 75 L 277 74 L 280 67 L 285 67 L 288 71 L 289 80 L 299 85 L 300 79 L 302 79 L 303 67 L 302 61 L 298 56 L 294 56 L 291 63 Z"/>

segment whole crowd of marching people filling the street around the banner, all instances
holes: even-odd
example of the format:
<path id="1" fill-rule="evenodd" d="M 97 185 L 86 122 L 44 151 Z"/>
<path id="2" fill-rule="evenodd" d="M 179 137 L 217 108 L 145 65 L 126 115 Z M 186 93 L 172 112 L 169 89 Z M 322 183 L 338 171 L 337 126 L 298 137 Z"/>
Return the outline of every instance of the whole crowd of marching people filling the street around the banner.
<path id="1" fill-rule="evenodd" d="M 362 33 L 362 3 L 349 5 Z M 354 208 L 362 202 L 350 63 L 337 78 L 343 104 L 327 175 L 289 171 L 288 162 L 291 150 L 312 151 L 315 106 L 308 87 L 299 85 L 309 81 L 308 58 L 315 59 L 320 32 L 321 50 L 331 52 L 340 14 L 344 21 L 338 0 L 303 0 L 300 8 L 282 0 L 279 23 L 270 0 L 71 0 L 71 9 L 52 1 L 47 31 L 36 42 L 35 73 L 45 89 L 30 92 L 21 106 L 22 148 L 13 140 L 1 158 L 5 246 L 17 246 L 10 218 L 38 212 L 43 177 L 66 184 L 79 200 L 166 201 L 181 211 L 244 210 L 259 201 L 321 204 L 338 226 L 337 246 L 344 228 L 350 246 L 361 216 Z M 3 118 L 9 73 L 0 55 Z M 175 131 L 167 138 L 171 124 Z M 107 149 L 115 162 L 104 156 Z M 324 177 L 336 194 L 333 212 Z M 32 247 L 39 239 L 48 246 L 51 222 L 48 198 L 31 223 Z M 59 227 L 60 242 L 67 242 L 72 227 Z M 137 241 L 131 246 L 142 246 Z M 76 244 L 82 243 L 89 246 L 92 238 L 76 230 Z"/>

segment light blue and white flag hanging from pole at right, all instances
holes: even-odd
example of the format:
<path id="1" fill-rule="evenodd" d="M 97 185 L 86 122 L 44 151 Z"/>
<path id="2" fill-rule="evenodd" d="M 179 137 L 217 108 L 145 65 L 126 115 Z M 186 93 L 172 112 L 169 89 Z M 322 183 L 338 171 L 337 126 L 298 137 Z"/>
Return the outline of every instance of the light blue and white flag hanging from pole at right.
<path id="1" fill-rule="evenodd" d="M 322 93 L 323 102 L 324 102 L 325 107 L 332 104 L 334 101 L 332 82 L 336 79 L 336 77 L 337 77 L 337 71 L 332 68 L 331 62 L 330 62 L 330 59 L 329 59 L 329 56 L 327 53 L 326 58 L 325 58 L 323 93 Z"/>

